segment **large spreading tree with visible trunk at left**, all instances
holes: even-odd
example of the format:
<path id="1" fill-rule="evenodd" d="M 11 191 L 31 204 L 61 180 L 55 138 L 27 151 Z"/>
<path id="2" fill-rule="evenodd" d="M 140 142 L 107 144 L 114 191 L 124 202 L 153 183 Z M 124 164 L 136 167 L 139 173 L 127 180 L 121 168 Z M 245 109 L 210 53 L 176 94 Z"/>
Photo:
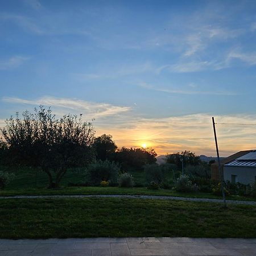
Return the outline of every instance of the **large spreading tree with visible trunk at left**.
<path id="1" fill-rule="evenodd" d="M 6 120 L 3 139 L 16 163 L 46 172 L 49 188 L 59 187 L 68 168 L 91 162 L 94 129 L 92 123 L 82 121 L 82 115 L 57 119 L 50 108 L 40 106 L 35 113 L 25 111 L 22 116 L 16 113 L 16 118 Z"/>

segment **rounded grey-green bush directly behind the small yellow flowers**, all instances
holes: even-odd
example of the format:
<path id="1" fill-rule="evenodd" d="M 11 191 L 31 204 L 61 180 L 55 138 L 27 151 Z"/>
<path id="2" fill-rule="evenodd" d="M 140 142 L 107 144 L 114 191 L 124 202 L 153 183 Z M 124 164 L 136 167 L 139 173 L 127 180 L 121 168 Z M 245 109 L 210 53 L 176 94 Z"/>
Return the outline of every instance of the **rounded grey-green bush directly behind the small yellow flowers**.
<path id="1" fill-rule="evenodd" d="M 117 177 L 120 168 L 114 162 L 109 160 L 98 160 L 90 164 L 86 170 L 86 181 L 90 185 L 100 185 L 101 181 L 109 181 L 110 185 L 117 184 Z"/>

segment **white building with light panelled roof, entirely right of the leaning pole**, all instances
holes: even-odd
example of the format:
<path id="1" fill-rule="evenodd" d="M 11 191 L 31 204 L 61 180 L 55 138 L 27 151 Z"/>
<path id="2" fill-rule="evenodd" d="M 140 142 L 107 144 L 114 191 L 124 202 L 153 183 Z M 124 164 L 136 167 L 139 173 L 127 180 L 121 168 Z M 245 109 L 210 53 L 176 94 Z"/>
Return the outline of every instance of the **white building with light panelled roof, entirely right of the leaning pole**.
<path id="1" fill-rule="evenodd" d="M 240 156 L 223 166 L 224 180 L 249 184 L 256 181 L 256 150 Z"/>

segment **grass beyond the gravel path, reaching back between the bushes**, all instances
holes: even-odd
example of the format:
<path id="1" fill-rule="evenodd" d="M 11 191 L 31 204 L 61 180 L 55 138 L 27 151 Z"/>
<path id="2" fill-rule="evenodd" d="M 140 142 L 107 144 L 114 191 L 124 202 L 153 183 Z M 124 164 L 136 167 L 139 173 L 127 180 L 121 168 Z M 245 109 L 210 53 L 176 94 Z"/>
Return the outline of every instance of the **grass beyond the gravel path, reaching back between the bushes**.
<path id="1" fill-rule="evenodd" d="M 193 192 L 180 193 L 172 189 L 150 190 L 145 187 L 140 188 L 118 188 L 118 187 L 67 187 L 69 182 L 81 183 L 84 181 L 84 175 L 81 170 L 68 170 L 67 174 L 61 180 L 60 189 L 47 189 L 48 177 L 44 172 L 36 171 L 32 168 L 20 168 L 9 170 L 15 172 L 15 179 L 6 187 L 0 190 L 0 196 L 15 195 L 156 195 L 156 196 L 183 196 L 197 198 L 221 199 L 220 196 L 211 193 Z M 133 171 L 137 184 L 144 184 L 144 172 Z M 165 179 L 172 179 L 172 173 L 167 173 Z M 227 196 L 230 200 L 256 201 L 252 197 Z"/>

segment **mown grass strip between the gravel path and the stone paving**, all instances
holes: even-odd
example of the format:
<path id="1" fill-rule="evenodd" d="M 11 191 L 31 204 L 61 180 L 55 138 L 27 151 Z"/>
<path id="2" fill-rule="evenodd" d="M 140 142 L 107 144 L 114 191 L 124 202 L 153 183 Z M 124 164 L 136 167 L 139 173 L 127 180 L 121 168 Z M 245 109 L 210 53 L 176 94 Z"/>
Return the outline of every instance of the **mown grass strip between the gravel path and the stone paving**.
<path id="1" fill-rule="evenodd" d="M 140 199 L 2 199 L 0 238 L 256 237 L 256 207 Z"/>

